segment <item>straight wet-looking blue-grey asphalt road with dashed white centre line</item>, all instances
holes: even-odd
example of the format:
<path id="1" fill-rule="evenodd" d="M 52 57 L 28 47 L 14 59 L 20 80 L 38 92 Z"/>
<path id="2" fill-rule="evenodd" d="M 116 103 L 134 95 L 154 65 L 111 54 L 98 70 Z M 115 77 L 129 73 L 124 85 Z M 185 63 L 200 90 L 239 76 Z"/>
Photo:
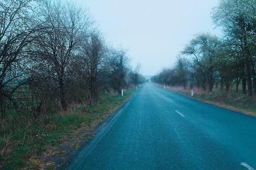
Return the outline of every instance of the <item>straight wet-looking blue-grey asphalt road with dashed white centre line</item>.
<path id="1" fill-rule="evenodd" d="M 69 170 L 254 170 L 256 119 L 145 84 Z"/>

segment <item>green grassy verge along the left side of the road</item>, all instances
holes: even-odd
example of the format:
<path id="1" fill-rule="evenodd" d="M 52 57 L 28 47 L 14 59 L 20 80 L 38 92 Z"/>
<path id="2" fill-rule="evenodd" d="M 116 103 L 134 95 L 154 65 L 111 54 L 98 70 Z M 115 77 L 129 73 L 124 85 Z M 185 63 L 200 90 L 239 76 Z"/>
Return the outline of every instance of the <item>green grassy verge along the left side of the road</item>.
<path id="1" fill-rule="evenodd" d="M 68 111 L 55 112 L 49 117 L 27 120 L 17 117 L 0 122 L 0 164 L 4 170 L 42 168 L 44 154 L 65 154 L 56 148 L 70 142 L 72 149 L 79 148 L 88 129 L 97 128 L 104 118 L 120 108 L 136 89 L 124 96 L 105 93 L 94 106 L 73 104 Z M 93 135 L 89 135 L 88 139 Z M 42 158 L 40 158 L 42 157 Z M 54 169 L 49 165 L 45 169 Z"/>

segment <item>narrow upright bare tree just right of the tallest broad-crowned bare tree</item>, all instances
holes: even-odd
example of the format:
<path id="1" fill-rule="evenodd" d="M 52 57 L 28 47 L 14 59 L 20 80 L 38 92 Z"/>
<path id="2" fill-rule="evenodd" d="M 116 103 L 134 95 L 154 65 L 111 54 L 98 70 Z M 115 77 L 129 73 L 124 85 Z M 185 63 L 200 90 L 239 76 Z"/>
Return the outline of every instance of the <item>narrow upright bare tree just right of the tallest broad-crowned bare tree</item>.
<path id="1" fill-rule="evenodd" d="M 104 89 L 102 86 L 107 47 L 103 36 L 99 31 L 94 31 L 81 43 L 80 53 L 74 58 L 76 71 L 84 82 L 88 102 L 90 105 L 97 104 L 99 93 Z"/>

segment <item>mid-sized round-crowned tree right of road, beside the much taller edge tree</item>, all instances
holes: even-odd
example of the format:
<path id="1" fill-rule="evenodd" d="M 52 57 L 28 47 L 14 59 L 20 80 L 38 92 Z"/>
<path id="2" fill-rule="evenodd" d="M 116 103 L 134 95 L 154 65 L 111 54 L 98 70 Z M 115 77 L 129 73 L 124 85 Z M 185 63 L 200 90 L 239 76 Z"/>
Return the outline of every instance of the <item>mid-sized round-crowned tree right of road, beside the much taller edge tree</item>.
<path id="1" fill-rule="evenodd" d="M 189 44 L 186 44 L 182 54 L 192 55 L 197 81 L 203 90 L 211 92 L 214 84 L 214 72 L 221 41 L 216 35 L 199 33 Z"/>

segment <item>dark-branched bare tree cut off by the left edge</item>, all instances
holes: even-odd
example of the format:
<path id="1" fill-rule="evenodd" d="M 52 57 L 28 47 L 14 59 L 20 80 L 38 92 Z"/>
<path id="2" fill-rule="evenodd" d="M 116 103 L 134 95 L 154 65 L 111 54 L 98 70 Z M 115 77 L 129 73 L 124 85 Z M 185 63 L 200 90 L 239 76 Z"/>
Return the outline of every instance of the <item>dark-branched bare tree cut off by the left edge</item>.
<path id="1" fill-rule="evenodd" d="M 25 62 L 30 43 L 36 38 L 40 24 L 34 20 L 32 0 L 0 1 L 0 111 L 5 118 L 7 99 L 26 82 Z"/>

